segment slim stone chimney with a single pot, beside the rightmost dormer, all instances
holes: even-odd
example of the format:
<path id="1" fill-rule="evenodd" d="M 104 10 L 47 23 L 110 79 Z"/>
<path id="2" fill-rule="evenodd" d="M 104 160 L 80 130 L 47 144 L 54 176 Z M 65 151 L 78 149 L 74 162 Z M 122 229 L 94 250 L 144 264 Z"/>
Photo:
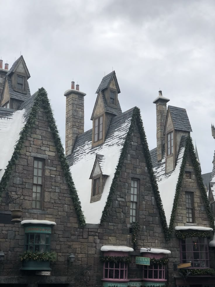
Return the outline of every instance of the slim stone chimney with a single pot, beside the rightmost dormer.
<path id="1" fill-rule="evenodd" d="M 169 99 L 162 96 L 162 91 L 158 92 L 158 97 L 153 101 L 156 104 L 156 126 L 157 126 L 157 160 L 162 160 L 165 145 L 164 126 L 167 116 L 167 102 Z"/>

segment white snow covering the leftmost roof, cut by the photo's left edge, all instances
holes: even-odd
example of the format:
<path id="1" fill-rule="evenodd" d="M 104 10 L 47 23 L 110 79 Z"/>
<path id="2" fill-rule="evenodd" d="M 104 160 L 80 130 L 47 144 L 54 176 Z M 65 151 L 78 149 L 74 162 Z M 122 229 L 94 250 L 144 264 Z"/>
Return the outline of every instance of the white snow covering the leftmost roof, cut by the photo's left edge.
<path id="1" fill-rule="evenodd" d="M 0 108 L 0 180 L 13 155 L 20 131 L 26 123 L 24 113 L 25 109 L 14 111 Z"/>

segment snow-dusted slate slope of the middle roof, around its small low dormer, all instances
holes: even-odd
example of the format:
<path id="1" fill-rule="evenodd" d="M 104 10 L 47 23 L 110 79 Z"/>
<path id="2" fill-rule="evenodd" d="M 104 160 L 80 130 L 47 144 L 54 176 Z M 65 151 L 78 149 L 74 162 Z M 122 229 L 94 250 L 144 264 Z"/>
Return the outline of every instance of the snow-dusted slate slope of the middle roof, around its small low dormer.
<path id="1" fill-rule="evenodd" d="M 80 135 L 77 138 L 72 156 L 70 158 L 67 157 L 68 162 L 71 165 L 70 171 L 77 189 L 86 223 L 100 223 L 119 161 L 119 156 L 131 125 L 132 114 L 133 109 L 130 109 L 112 119 L 107 137 L 102 145 L 92 147 L 92 130 Z M 105 182 L 101 199 L 90 203 L 92 180 L 89 179 L 89 177 L 93 169 L 96 154 L 104 156 L 102 171 L 103 174 L 108 175 L 108 177 Z"/>

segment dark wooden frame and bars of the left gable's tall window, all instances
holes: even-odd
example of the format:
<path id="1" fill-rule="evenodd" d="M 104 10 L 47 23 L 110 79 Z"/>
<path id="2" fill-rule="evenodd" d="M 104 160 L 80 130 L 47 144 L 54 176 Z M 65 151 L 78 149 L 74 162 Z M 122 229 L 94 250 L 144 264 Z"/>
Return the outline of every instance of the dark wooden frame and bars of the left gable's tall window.
<path id="1" fill-rule="evenodd" d="M 38 164 L 37 164 L 37 167 L 34 166 L 34 162 L 37 161 Z M 39 166 L 39 162 L 42 163 L 41 165 L 41 176 L 38 176 L 38 166 Z M 37 183 L 34 182 L 34 177 L 36 177 L 34 175 L 34 169 L 37 168 L 37 177 L 41 177 L 41 183 L 38 183 L 38 178 L 37 178 Z M 35 193 L 34 192 L 34 186 L 36 186 L 36 200 L 33 199 L 33 194 Z M 40 200 L 37 200 L 37 187 L 40 186 Z M 41 210 L 42 209 L 42 206 L 43 206 L 43 188 L 44 188 L 44 159 L 40 159 L 40 158 L 34 158 L 34 161 L 33 161 L 33 186 L 32 186 L 32 209 L 37 209 L 37 210 Z M 36 205 L 35 207 L 33 206 L 33 202 L 35 201 Z M 37 202 L 40 201 L 40 207 L 38 208 L 37 207 Z"/>

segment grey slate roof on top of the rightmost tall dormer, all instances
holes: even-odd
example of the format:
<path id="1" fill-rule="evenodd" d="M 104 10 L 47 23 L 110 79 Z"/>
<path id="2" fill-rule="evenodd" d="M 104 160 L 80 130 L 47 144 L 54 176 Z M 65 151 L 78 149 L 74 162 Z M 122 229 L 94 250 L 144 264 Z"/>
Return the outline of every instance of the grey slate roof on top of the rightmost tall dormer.
<path id="1" fill-rule="evenodd" d="M 168 106 L 168 110 L 171 114 L 173 126 L 175 130 L 184 130 L 192 132 L 190 121 L 187 115 L 187 111 L 176 106 Z M 167 113 L 168 115 L 168 113 Z"/>

